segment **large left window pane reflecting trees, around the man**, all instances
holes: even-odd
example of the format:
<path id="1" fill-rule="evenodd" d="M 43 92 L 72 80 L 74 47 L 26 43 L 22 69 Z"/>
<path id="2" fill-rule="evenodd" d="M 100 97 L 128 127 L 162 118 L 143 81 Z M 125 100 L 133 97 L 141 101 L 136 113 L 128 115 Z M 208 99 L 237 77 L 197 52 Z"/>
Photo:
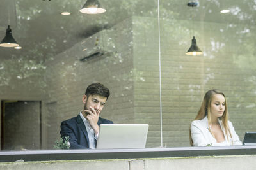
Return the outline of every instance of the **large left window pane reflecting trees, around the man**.
<path id="1" fill-rule="evenodd" d="M 154 42 L 157 5 L 154 1 L 100 3 L 106 13 L 87 15 L 79 12 L 84 1 L 16 1 L 17 27 L 13 32 L 22 50 L 1 48 L 2 106 L 6 108 L 12 100 L 42 102 L 42 106 L 36 111 L 28 109 L 39 119 L 29 134 L 36 134 L 36 139 L 24 135 L 28 138 L 26 145 L 13 142 L 8 147 L 3 141 L 2 150 L 52 149 L 60 137 L 60 123 L 83 109 L 81 94 L 93 82 L 104 83 L 111 91 L 101 117 L 119 124 L 150 124 L 147 147 L 159 146 L 159 124 L 154 124 L 160 117 L 159 70 L 152 61 L 154 69 L 143 64 L 147 54 L 158 62 L 158 43 Z M 63 16 L 63 11 L 71 14 Z M 146 52 L 148 41 L 154 42 L 150 45 L 153 53 Z M 145 88 L 150 81 L 157 83 Z M 154 97 L 154 104 L 147 101 L 148 94 Z M 19 106 L 17 109 L 21 110 Z M 1 113 L 6 118 L 4 111 Z M 12 122 L 19 122 L 20 114 L 28 113 L 24 109 L 22 113 L 13 110 L 12 114 Z M 13 125 L 2 120 L 4 134 L 13 133 Z M 29 121 L 26 127 L 32 127 L 33 118 Z"/>

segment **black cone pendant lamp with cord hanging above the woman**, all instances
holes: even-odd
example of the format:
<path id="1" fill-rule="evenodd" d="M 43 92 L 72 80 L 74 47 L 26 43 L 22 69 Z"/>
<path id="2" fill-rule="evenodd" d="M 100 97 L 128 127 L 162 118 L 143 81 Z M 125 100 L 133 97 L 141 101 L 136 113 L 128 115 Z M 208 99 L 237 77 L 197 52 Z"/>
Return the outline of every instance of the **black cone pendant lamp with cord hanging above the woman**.
<path id="1" fill-rule="evenodd" d="M 191 3 L 188 3 L 188 6 L 189 7 L 194 7 L 194 6 L 197 6 L 198 3 L 195 3 L 195 2 L 191 2 Z M 193 22 L 193 15 L 192 15 L 192 22 Z M 194 22 L 193 22 L 193 32 L 194 32 Z M 200 55 L 202 54 L 203 52 L 199 49 L 199 47 L 196 45 L 196 39 L 195 39 L 195 35 L 193 34 L 193 39 L 192 39 L 192 43 L 191 43 L 191 46 L 190 48 L 188 49 L 188 52 L 186 52 L 186 55 Z"/>

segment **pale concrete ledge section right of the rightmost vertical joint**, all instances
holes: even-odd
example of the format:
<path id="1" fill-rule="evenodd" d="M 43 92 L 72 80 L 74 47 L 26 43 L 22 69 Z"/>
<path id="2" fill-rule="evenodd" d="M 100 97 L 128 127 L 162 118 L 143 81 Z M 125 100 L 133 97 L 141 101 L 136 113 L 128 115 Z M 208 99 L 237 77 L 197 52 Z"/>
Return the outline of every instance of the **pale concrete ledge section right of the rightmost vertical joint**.
<path id="1" fill-rule="evenodd" d="M 189 169 L 227 170 L 256 169 L 256 155 L 232 155 L 216 157 L 184 157 L 177 159 L 145 160 L 147 170 Z"/>

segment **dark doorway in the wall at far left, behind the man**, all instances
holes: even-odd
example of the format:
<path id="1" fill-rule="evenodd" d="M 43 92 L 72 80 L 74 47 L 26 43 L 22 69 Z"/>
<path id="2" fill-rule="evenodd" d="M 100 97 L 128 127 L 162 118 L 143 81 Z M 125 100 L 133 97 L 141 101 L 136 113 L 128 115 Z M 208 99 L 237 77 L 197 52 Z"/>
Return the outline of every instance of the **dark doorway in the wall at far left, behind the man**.
<path id="1" fill-rule="evenodd" d="M 38 150 L 42 145 L 40 101 L 1 101 L 1 150 Z"/>

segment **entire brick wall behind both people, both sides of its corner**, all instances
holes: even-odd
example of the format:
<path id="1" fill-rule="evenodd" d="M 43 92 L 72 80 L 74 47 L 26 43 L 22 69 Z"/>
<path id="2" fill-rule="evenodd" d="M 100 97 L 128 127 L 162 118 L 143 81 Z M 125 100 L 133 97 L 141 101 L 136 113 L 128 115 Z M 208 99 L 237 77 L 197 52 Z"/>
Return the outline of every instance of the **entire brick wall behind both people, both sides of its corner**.
<path id="1" fill-rule="evenodd" d="M 225 24 L 195 22 L 195 38 L 204 55 L 188 56 L 191 22 L 161 19 L 160 23 L 163 146 L 189 146 L 191 120 L 205 92 L 213 88 L 226 94 L 230 120 L 241 140 L 245 131 L 256 131 L 255 30 L 246 36 L 239 34 L 243 25 L 230 29 Z M 88 52 L 83 49 L 92 49 L 97 39 L 99 46 L 113 53 L 81 62 Z M 103 118 L 150 124 L 147 147 L 161 145 L 157 18 L 124 20 L 58 54 L 45 66 L 43 74 L 26 80 L 33 82 L 29 86 L 13 74 L 16 79 L 0 91 L 0 99 L 43 101 L 44 148 L 51 149 L 60 137 L 61 121 L 83 109 L 85 88 L 96 81 L 111 91 Z"/>

